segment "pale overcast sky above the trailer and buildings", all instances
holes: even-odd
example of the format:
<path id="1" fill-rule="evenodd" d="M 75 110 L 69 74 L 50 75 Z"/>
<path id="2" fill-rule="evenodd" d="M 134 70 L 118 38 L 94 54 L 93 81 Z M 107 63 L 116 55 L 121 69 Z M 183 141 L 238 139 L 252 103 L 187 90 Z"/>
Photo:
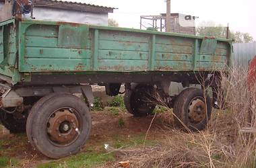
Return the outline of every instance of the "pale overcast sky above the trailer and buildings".
<path id="1" fill-rule="evenodd" d="M 109 14 L 119 22 L 120 27 L 139 28 L 140 15 L 166 13 L 165 0 L 69 0 L 94 5 L 116 7 Z M 256 40 L 256 0 L 171 0 L 171 13 L 184 13 L 199 17 L 201 22 L 215 22 L 230 30 L 247 32 Z"/>

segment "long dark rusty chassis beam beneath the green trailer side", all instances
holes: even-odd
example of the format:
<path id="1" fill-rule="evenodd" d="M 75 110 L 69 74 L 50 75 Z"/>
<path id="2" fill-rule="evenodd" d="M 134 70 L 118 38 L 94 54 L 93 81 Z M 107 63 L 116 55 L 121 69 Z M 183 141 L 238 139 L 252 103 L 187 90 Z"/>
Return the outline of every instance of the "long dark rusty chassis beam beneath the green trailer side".
<path id="1" fill-rule="evenodd" d="M 181 82 L 184 79 L 198 83 L 203 72 L 147 72 L 147 73 L 91 73 L 91 74 L 55 74 L 32 75 L 30 82 L 24 85 L 68 85 L 75 83 L 157 83 L 164 80 Z M 197 76 L 197 77 L 196 77 Z"/>

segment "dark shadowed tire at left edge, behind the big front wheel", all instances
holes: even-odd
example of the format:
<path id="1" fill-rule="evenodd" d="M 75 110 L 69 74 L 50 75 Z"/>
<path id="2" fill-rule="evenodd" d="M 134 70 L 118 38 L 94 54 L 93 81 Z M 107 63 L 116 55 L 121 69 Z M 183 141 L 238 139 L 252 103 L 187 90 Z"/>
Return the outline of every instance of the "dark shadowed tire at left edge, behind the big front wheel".
<path id="1" fill-rule="evenodd" d="M 11 133 L 26 132 L 26 118 L 24 120 L 18 120 L 13 117 L 13 114 L 7 114 L 3 110 L 0 110 L 0 120 L 0 124 L 5 126 Z"/>

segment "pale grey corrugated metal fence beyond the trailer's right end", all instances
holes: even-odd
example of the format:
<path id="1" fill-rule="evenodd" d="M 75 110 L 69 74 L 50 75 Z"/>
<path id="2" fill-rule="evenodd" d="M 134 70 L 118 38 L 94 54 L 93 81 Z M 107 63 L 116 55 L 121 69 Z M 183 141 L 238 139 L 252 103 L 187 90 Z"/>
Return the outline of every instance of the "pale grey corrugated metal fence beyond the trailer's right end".
<path id="1" fill-rule="evenodd" d="M 233 64 L 248 68 L 249 61 L 256 55 L 256 42 L 234 44 Z"/>

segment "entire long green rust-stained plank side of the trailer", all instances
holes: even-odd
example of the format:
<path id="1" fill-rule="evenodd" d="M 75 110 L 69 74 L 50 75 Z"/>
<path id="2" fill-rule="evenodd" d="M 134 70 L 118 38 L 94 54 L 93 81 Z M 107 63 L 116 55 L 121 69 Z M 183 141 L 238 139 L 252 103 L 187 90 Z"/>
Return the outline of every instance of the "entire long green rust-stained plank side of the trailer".
<path id="1" fill-rule="evenodd" d="M 60 22 L 20 22 L 19 42 L 30 73 L 222 71 L 230 60 L 219 39 Z"/>

